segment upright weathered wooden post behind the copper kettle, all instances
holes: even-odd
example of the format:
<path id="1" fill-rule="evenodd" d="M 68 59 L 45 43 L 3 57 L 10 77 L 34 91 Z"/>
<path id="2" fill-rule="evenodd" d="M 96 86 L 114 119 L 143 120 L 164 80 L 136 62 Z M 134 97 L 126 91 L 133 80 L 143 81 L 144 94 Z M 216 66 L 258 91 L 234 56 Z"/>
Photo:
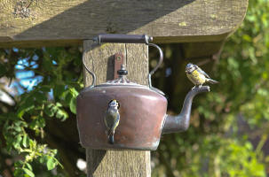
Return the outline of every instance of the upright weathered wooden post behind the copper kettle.
<path id="1" fill-rule="evenodd" d="M 122 52 L 127 65 L 128 78 L 147 84 L 148 49 L 143 44 L 106 43 L 92 46 L 90 40 L 83 42 L 83 58 L 86 65 L 96 73 L 97 84 L 113 80 L 113 55 Z M 91 84 L 91 75 L 84 71 L 84 84 Z M 91 150 L 86 149 L 88 177 L 150 177 L 150 151 L 147 150 Z"/>

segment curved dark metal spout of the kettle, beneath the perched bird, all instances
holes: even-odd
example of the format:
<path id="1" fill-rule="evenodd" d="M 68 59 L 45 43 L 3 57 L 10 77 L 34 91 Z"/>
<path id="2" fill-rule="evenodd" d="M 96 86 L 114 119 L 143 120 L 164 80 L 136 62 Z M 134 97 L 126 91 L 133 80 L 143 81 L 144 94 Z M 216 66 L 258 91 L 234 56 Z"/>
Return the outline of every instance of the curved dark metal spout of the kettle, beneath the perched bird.
<path id="1" fill-rule="evenodd" d="M 209 86 L 195 87 L 190 90 L 185 97 L 181 112 L 177 116 L 166 115 L 164 126 L 162 127 L 162 134 L 186 131 L 190 124 L 190 114 L 194 96 L 209 91 Z"/>

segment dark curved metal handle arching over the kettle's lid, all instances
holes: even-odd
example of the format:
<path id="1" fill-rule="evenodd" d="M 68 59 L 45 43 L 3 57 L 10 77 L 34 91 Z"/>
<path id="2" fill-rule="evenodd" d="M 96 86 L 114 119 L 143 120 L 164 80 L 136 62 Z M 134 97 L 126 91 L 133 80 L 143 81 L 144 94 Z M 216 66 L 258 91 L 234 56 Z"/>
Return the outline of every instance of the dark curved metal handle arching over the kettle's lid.
<path id="1" fill-rule="evenodd" d="M 115 34 L 106 34 L 106 35 L 98 35 L 98 36 L 94 37 L 92 40 L 93 40 L 93 42 L 98 42 L 99 44 L 101 44 L 102 42 L 145 43 L 148 46 L 152 46 L 154 48 L 157 48 L 157 50 L 160 53 L 159 62 L 154 67 L 154 69 L 150 73 L 148 73 L 148 75 L 147 75 L 149 88 L 150 89 L 153 88 L 152 87 L 152 83 L 151 83 L 151 76 L 160 67 L 160 65 L 162 65 L 162 60 L 163 60 L 162 49 L 158 45 L 156 45 L 154 43 L 150 43 L 150 42 L 153 41 L 153 37 L 148 36 L 148 35 L 115 35 Z M 87 65 L 85 65 L 85 58 L 84 57 L 83 57 L 83 66 L 87 70 L 87 72 L 91 74 L 92 82 L 91 82 L 90 88 L 93 88 L 95 86 L 95 82 L 96 82 L 96 75 L 95 75 L 95 73 L 91 72 L 91 70 L 89 69 L 89 67 L 87 67 Z"/>

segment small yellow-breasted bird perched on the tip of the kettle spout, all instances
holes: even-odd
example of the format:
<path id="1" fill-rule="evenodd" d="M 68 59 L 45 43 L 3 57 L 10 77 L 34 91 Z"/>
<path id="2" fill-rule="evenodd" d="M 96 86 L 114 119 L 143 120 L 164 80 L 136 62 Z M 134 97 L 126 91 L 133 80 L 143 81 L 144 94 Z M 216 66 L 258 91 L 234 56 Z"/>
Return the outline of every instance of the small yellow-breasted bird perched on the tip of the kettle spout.
<path id="1" fill-rule="evenodd" d="M 218 81 L 214 81 L 210 79 L 210 76 L 202 71 L 198 65 L 188 64 L 186 65 L 186 76 L 187 78 L 194 83 L 194 88 L 198 86 L 199 88 L 205 82 L 210 82 L 211 84 L 216 84 Z"/>

